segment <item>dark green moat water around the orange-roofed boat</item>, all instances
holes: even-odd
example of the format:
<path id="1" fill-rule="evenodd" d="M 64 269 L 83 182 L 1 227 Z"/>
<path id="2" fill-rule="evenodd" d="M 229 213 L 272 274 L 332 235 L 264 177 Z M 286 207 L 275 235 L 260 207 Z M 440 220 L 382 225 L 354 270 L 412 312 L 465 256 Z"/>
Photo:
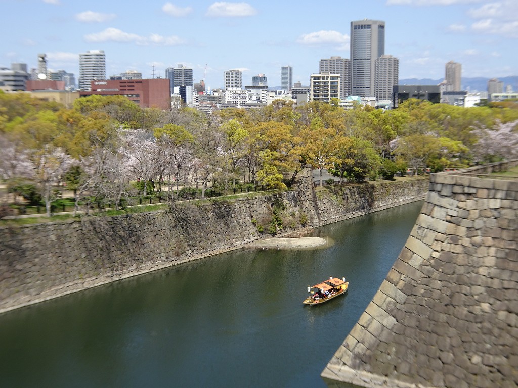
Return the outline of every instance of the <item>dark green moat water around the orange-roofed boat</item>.
<path id="1" fill-rule="evenodd" d="M 0 386 L 325 387 L 422 204 L 316 229 L 319 249 L 224 253 L 0 315 Z M 303 305 L 329 276 L 348 293 Z"/>

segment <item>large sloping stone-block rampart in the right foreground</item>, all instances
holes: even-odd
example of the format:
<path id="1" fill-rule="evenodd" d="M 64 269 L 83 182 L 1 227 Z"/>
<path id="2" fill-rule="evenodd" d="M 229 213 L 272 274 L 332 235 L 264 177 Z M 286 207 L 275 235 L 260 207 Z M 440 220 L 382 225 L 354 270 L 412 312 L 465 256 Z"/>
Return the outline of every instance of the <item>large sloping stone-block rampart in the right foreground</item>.
<path id="1" fill-rule="evenodd" d="M 518 386 L 518 180 L 482 175 L 502 167 L 431 176 L 405 247 L 324 378 Z"/>

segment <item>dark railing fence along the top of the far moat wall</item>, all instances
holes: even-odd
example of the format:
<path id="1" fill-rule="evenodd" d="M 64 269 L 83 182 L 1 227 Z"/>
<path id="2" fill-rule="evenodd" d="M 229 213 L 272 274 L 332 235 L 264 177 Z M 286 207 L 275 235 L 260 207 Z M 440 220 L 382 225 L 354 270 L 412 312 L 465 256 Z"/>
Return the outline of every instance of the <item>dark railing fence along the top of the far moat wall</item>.
<path id="1" fill-rule="evenodd" d="M 244 186 L 244 187 L 236 187 L 227 190 L 223 189 L 207 189 L 205 190 L 205 198 L 213 198 L 213 197 L 221 197 L 224 195 L 232 195 L 232 194 L 240 194 L 247 192 L 257 192 L 257 191 L 265 191 L 264 186 Z M 152 205 L 159 203 L 167 203 L 171 201 L 184 201 L 184 200 L 193 200 L 193 199 L 201 199 L 202 193 L 200 190 L 180 190 L 178 193 L 176 191 L 170 191 L 168 195 L 158 195 L 158 196 L 146 196 L 146 197 L 131 197 L 131 198 L 123 198 L 119 202 L 119 207 L 127 207 L 127 206 L 137 206 L 137 205 Z M 73 212 L 75 205 L 73 203 L 66 204 L 51 204 L 50 212 L 51 213 L 65 213 L 65 212 Z M 106 209 L 116 208 L 116 201 L 113 199 L 103 199 L 103 200 L 95 200 L 95 201 L 80 201 L 79 202 L 79 210 L 92 210 L 92 211 L 102 211 Z M 11 206 L 11 215 L 31 215 L 31 214 L 44 214 L 47 212 L 47 208 L 45 205 L 35 205 L 35 206 L 26 206 L 26 205 L 15 205 Z"/>

